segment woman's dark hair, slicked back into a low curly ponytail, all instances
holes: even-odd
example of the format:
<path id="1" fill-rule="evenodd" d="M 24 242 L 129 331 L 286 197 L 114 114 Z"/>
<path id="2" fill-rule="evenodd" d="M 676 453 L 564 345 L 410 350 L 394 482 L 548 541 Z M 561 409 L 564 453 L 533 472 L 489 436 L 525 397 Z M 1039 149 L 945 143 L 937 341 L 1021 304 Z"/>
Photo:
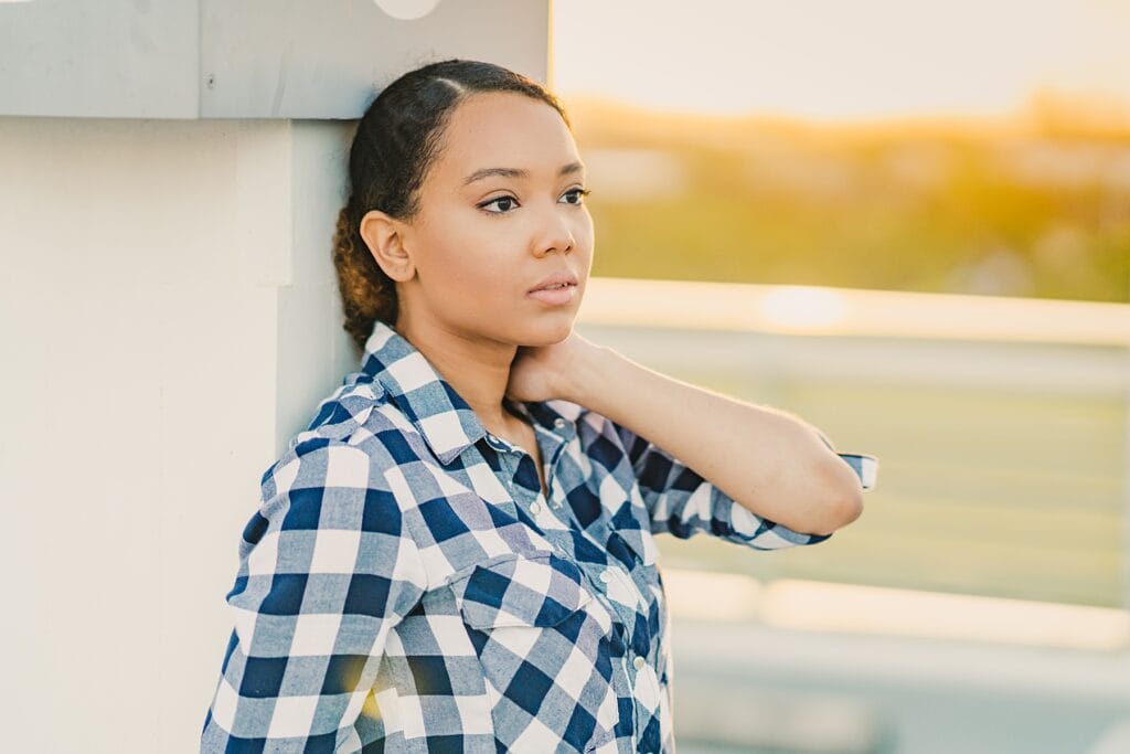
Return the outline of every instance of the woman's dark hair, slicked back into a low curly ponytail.
<path id="1" fill-rule="evenodd" d="M 338 274 L 345 330 L 358 352 L 377 320 L 397 322 L 397 288 L 360 237 L 360 218 L 379 209 L 411 220 L 419 188 L 435 159 L 455 107 L 471 95 L 515 92 L 540 99 L 573 130 L 565 107 L 538 81 L 502 66 L 451 59 L 403 73 L 365 110 L 349 149 L 350 193 L 338 214 L 333 266 Z"/>

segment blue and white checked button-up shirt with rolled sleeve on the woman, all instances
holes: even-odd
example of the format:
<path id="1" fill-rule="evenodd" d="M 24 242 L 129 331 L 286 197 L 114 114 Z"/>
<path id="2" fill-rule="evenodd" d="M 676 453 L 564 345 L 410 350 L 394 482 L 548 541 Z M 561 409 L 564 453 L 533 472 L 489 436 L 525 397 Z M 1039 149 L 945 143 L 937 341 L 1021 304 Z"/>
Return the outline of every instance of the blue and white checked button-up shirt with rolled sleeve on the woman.
<path id="1" fill-rule="evenodd" d="M 673 749 L 653 536 L 831 535 L 758 518 L 577 404 L 506 405 L 534 427 L 548 500 L 533 458 L 374 326 L 263 474 L 202 752 Z M 873 484 L 872 457 L 841 457 Z"/>

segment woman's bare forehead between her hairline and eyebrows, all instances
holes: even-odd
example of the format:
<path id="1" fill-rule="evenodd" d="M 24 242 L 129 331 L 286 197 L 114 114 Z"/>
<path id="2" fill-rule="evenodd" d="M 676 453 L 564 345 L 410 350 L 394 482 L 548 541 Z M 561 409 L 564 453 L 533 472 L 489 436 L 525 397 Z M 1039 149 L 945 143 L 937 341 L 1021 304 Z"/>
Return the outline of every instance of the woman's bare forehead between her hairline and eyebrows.
<path id="1" fill-rule="evenodd" d="M 452 113 L 436 177 L 459 188 L 483 167 L 528 170 L 534 180 L 553 180 L 577 161 L 576 144 L 562 116 L 548 104 L 522 94 L 476 94 Z"/>

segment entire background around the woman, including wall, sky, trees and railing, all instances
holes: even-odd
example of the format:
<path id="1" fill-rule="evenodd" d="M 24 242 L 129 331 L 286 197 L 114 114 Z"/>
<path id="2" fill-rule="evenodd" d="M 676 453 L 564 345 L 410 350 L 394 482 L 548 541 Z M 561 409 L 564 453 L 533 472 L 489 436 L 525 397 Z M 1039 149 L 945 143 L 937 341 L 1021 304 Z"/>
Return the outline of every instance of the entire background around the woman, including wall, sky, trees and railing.
<path id="1" fill-rule="evenodd" d="M 1128 28 L 1130 0 L 0 0 L 5 751 L 198 749 L 260 475 L 357 367 L 357 118 L 461 57 L 568 109 L 579 330 L 879 459 L 818 545 L 659 538 L 679 751 L 1130 753 Z"/>

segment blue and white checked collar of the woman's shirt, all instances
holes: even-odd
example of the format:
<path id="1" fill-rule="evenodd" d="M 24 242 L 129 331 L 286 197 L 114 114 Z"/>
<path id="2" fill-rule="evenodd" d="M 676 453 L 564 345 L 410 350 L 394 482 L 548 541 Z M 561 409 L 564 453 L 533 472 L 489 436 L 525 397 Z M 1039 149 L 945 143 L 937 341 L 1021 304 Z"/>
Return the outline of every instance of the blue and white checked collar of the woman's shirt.
<path id="1" fill-rule="evenodd" d="M 384 387 L 443 465 L 486 436 L 486 427 L 462 396 L 411 341 L 381 320 L 365 341 L 360 369 Z M 558 411 L 544 401 L 504 400 L 531 424 L 550 432 L 555 426 L 572 427 L 576 418 L 565 415 L 575 411 Z M 558 418 L 564 423 L 557 423 Z"/>

